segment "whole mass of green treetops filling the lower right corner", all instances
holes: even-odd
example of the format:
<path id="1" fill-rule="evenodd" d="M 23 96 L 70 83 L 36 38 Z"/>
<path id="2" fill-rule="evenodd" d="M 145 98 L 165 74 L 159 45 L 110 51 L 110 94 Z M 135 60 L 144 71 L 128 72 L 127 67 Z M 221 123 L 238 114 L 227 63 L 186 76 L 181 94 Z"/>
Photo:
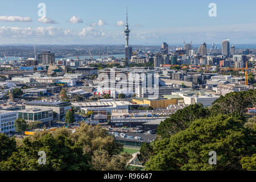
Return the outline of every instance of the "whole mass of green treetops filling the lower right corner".
<path id="1" fill-rule="evenodd" d="M 194 104 L 171 114 L 158 126 L 158 138 L 141 147 L 147 170 L 255 170 L 256 122 L 246 121 L 256 90 L 231 92 L 211 107 Z M 216 151 L 217 165 L 209 152 Z"/>

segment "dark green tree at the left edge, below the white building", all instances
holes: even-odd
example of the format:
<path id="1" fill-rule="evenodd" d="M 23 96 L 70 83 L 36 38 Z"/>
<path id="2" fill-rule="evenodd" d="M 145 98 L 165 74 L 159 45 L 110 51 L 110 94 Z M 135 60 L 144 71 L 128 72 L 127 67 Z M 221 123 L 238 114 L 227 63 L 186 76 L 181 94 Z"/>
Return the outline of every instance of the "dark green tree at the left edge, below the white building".
<path id="1" fill-rule="evenodd" d="M 0 162 L 8 159 L 16 151 L 15 138 L 9 138 L 6 134 L 0 133 Z"/>

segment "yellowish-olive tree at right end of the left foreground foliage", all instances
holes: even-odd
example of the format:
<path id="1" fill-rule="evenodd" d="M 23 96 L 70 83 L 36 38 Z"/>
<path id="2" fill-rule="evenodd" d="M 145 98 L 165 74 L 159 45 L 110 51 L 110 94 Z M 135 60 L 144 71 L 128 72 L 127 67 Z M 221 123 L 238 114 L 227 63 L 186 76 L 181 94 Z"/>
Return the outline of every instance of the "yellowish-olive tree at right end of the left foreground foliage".
<path id="1" fill-rule="evenodd" d="M 100 126 L 91 126 L 82 123 L 72 134 L 75 142 L 80 142 L 84 152 L 89 152 L 92 157 L 92 166 L 96 170 L 126 170 L 130 154 L 119 155 L 123 145 L 115 142 L 113 135 Z"/>

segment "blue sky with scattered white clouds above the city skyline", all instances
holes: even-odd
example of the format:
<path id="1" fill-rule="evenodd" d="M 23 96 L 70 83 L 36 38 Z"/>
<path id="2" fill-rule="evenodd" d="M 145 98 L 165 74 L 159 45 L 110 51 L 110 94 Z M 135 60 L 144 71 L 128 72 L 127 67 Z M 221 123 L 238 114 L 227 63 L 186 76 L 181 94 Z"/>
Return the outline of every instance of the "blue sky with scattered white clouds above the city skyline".
<path id="1" fill-rule="evenodd" d="M 209 16 L 210 3 L 216 16 Z M 254 44 L 255 6 L 255 0 L 8 0 L 0 6 L 0 44 L 125 44 L 126 7 L 130 45 Z"/>

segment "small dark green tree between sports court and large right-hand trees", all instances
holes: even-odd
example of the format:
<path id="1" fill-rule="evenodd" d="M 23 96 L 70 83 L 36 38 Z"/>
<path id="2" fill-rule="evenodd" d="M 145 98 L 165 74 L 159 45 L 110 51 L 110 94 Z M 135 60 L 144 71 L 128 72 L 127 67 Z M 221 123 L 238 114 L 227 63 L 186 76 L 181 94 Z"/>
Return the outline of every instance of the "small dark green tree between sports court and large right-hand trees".
<path id="1" fill-rule="evenodd" d="M 142 143 L 141 148 L 139 149 L 139 153 L 137 154 L 137 157 L 139 159 L 139 162 L 142 163 L 144 166 L 146 162 L 150 159 L 150 156 L 153 155 L 153 147 L 150 143 Z"/>

